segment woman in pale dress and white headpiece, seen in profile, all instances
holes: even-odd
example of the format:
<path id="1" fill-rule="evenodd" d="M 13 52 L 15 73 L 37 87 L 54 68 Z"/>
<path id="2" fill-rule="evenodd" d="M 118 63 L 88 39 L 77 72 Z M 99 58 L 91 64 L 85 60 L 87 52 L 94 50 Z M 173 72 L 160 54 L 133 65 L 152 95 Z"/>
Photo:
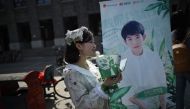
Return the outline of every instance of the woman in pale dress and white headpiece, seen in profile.
<path id="1" fill-rule="evenodd" d="M 118 83 L 121 75 L 99 82 L 100 74 L 88 57 L 96 55 L 93 34 L 86 27 L 68 31 L 65 38 L 65 85 L 76 109 L 109 109 L 104 89 Z"/>

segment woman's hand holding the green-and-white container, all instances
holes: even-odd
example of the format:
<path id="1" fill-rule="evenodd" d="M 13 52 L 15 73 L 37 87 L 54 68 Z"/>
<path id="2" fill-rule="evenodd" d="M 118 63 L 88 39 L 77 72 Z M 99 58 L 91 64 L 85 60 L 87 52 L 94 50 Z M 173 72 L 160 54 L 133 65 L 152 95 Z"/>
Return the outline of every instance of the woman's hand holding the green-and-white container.
<path id="1" fill-rule="evenodd" d="M 122 80 L 122 75 L 119 73 L 118 75 L 114 77 L 108 77 L 104 80 L 103 85 L 104 86 L 112 86 L 113 84 L 117 84 Z"/>

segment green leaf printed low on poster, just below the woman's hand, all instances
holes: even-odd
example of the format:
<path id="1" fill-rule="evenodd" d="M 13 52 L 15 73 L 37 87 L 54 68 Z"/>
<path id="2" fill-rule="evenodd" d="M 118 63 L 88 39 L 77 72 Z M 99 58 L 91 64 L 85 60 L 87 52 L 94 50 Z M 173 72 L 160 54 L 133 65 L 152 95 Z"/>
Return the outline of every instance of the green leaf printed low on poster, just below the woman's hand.
<path id="1" fill-rule="evenodd" d="M 128 86 L 128 87 L 122 87 L 122 88 L 115 90 L 114 93 L 110 97 L 110 102 L 115 102 L 118 99 L 120 99 L 122 96 L 124 96 L 129 91 L 130 88 L 131 88 L 131 86 Z"/>

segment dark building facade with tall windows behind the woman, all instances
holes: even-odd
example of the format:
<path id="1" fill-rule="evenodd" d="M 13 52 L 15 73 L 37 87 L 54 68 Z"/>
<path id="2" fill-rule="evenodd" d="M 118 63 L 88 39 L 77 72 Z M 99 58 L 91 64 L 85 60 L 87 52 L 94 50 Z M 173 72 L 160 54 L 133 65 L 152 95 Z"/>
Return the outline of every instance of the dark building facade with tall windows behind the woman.
<path id="1" fill-rule="evenodd" d="M 64 21 L 64 18 L 74 16 L 77 18 L 77 27 L 89 27 L 89 14 L 100 13 L 97 0 L 49 0 L 50 2 L 47 5 L 39 5 L 36 2 L 37 0 L 24 0 L 24 5 L 21 7 L 15 7 L 14 1 L 16 0 L 1 1 L 4 6 L 2 9 L 0 8 L 0 25 L 6 25 L 8 28 L 10 50 L 26 49 L 18 32 L 19 23 L 29 24 L 31 39 L 29 43 L 25 44 L 30 44 L 31 48 L 27 49 L 44 48 L 64 45 L 64 34 L 67 30 L 67 28 L 64 28 L 64 24 L 68 24 Z M 44 27 L 40 22 L 44 20 L 51 20 L 53 24 L 54 38 L 52 40 L 47 39 L 46 45 L 44 45 L 45 41 L 42 35 Z M 98 22 L 100 22 L 100 18 Z M 72 22 L 70 24 L 72 25 Z M 48 45 L 48 41 L 50 45 Z"/>

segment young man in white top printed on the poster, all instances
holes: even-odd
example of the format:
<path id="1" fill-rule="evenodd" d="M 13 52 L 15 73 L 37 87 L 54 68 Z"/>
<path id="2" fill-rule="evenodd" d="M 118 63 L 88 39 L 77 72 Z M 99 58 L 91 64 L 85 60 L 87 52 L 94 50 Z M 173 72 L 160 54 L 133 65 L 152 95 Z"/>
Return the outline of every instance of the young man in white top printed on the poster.
<path id="1" fill-rule="evenodd" d="M 144 26 L 138 21 L 129 21 L 123 26 L 121 35 L 128 50 L 119 86 L 132 86 L 131 92 L 122 101 L 129 105 L 129 109 L 166 109 L 164 66 L 159 55 L 144 46 Z"/>

